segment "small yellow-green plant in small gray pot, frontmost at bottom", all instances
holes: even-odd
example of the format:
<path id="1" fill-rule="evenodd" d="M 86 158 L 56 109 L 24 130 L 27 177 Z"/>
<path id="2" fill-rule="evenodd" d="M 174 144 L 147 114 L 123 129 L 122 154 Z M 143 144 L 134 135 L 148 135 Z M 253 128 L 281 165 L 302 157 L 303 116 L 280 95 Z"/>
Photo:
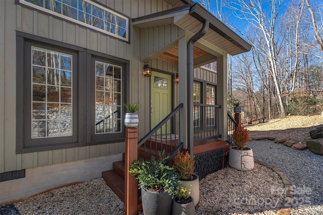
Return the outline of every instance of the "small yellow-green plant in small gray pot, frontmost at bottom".
<path id="1" fill-rule="evenodd" d="M 180 185 L 176 187 L 175 197 L 173 200 L 173 215 L 190 215 L 195 214 L 194 200 L 190 196 L 191 192 L 189 187 L 191 184 L 186 184 L 180 182 Z"/>

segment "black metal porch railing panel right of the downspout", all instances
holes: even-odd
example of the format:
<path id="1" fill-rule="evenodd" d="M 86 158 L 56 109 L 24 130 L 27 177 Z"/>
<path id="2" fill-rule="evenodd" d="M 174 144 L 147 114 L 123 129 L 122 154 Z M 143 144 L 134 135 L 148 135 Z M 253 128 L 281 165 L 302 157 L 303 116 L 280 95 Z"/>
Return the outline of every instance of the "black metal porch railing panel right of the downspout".
<path id="1" fill-rule="evenodd" d="M 219 133 L 219 108 L 221 108 L 221 105 L 194 103 L 194 140 L 221 137 Z"/>

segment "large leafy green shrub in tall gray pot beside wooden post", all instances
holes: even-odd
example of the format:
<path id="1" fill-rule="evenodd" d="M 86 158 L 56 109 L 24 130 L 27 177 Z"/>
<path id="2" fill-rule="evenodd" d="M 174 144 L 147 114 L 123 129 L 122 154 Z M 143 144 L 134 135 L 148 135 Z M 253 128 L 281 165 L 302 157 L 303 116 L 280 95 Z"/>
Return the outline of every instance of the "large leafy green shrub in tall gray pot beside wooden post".
<path id="1" fill-rule="evenodd" d="M 144 214 L 171 214 L 175 185 L 178 183 L 173 167 L 164 162 L 165 150 L 159 152 L 159 160 L 151 157 L 150 161 L 134 161 L 130 173 L 138 179 L 141 189 L 142 209 Z"/>

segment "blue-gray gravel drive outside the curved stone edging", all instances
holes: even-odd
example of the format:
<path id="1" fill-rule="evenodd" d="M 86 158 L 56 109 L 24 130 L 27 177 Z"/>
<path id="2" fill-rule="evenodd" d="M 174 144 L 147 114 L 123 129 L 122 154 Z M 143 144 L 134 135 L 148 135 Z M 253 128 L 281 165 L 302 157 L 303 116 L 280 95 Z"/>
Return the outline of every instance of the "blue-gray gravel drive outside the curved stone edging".
<path id="1" fill-rule="evenodd" d="M 272 140 L 250 140 L 259 161 L 280 169 L 294 188 L 291 214 L 323 214 L 323 156 L 297 151 Z"/>

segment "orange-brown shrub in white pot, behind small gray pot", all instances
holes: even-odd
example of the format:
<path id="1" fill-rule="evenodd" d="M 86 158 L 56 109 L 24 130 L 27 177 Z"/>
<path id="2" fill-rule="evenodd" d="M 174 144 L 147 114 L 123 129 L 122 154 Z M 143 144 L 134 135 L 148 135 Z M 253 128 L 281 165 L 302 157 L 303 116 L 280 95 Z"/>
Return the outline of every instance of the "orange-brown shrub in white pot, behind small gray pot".
<path id="1" fill-rule="evenodd" d="M 176 171 L 178 179 L 185 185 L 191 184 L 191 196 L 194 199 L 194 206 L 199 201 L 200 187 L 199 187 L 199 177 L 194 174 L 194 157 L 186 151 L 178 151 L 175 158 L 173 167 Z"/>

